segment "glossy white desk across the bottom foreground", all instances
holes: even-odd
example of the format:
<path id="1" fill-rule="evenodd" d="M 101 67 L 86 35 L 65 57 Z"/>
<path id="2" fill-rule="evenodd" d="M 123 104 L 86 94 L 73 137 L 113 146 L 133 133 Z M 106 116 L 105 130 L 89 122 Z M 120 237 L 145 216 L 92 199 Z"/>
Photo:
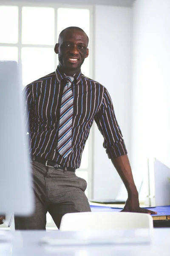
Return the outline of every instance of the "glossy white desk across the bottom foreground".
<path id="1" fill-rule="evenodd" d="M 139 231 L 139 230 L 136 230 Z M 133 230 L 133 232 L 136 232 Z M 0 231 L 2 232 L 2 231 Z M 52 239 L 79 237 L 81 232 L 64 231 L 6 231 L 13 235 L 11 243 L 0 244 L 0 256 L 144 256 L 170 255 L 169 234 L 170 228 L 153 229 L 153 241 L 148 244 L 98 244 L 76 246 L 42 246 L 40 241 L 48 236 Z M 115 230 L 108 231 L 108 236 L 115 234 Z M 99 231 L 98 231 L 99 233 Z M 103 231 L 100 232 L 101 236 Z M 129 236 L 130 230 L 126 230 L 125 236 Z"/>

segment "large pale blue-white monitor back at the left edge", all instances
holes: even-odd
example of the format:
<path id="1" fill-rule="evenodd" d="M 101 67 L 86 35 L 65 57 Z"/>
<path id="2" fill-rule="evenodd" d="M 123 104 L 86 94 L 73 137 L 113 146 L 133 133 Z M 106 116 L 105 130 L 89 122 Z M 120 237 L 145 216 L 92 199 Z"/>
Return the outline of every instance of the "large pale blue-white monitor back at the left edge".
<path id="1" fill-rule="evenodd" d="M 34 209 L 18 74 L 16 61 L 0 61 L 0 215 Z"/>

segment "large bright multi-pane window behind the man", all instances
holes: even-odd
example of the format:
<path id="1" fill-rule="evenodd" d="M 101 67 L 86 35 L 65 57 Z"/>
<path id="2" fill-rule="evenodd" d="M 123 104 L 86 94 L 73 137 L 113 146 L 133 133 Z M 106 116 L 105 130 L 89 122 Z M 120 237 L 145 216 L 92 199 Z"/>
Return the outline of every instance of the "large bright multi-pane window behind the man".
<path id="1" fill-rule="evenodd" d="M 0 5 L 0 60 L 15 60 L 22 63 L 23 86 L 55 70 L 58 64 L 54 45 L 59 33 L 68 26 L 79 26 L 90 38 L 92 10 L 83 6 L 63 7 L 61 4 L 14 3 Z M 71 14 L 71 19 L 70 19 Z M 64 17 L 64 19 L 63 19 Z M 82 73 L 92 76 L 92 56 L 82 65 Z M 90 136 L 91 137 L 91 136 Z M 91 140 L 88 139 L 82 154 L 82 163 L 76 174 L 91 186 Z M 89 195 L 91 189 L 86 189 Z M 47 227 L 54 226 L 47 215 Z"/>

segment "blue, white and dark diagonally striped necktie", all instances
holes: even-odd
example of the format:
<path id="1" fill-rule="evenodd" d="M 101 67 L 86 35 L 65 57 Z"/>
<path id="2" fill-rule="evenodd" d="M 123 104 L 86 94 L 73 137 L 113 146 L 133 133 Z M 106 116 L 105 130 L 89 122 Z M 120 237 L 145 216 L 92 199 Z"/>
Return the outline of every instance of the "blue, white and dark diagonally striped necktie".
<path id="1" fill-rule="evenodd" d="M 67 157 L 72 151 L 73 92 L 71 83 L 74 77 L 65 76 L 64 80 L 66 84 L 61 99 L 57 150 L 62 157 Z"/>

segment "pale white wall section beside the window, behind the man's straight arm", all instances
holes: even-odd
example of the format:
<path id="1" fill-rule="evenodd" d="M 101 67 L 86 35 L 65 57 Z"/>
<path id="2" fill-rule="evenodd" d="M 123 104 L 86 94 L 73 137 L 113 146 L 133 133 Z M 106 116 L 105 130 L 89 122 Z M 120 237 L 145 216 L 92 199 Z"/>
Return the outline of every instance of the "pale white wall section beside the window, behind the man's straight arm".
<path id="1" fill-rule="evenodd" d="M 94 79 L 113 100 L 116 117 L 130 155 L 130 74 L 132 9 L 95 6 Z M 94 198 L 114 198 L 122 181 L 102 147 L 103 137 L 94 127 Z"/>

